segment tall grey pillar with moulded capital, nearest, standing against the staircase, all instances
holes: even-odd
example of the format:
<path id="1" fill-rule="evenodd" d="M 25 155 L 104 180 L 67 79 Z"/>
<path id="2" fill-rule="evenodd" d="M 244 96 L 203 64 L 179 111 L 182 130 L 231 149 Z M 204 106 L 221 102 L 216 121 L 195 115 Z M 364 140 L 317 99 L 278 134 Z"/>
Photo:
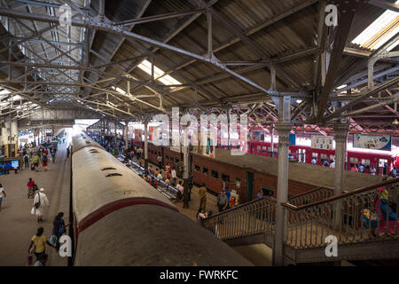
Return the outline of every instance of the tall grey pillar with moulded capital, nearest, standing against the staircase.
<path id="1" fill-rule="evenodd" d="M 287 122 L 276 123 L 278 130 L 278 190 L 276 204 L 276 234 L 273 247 L 273 265 L 284 265 L 284 239 L 286 216 L 282 202 L 288 201 L 288 146 L 293 125 Z"/>

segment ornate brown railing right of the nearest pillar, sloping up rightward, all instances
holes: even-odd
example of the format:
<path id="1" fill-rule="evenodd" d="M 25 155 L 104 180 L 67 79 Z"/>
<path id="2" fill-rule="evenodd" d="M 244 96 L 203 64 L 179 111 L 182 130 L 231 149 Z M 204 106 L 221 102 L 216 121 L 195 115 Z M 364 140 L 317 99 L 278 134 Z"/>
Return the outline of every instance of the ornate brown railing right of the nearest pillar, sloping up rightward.
<path id="1" fill-rule="evenodd" d="M 311 204 L 286 208 L 285 243 L 292 248 L 325 247 L 333 235 L 338 244 L 398 240 L 399 178 L 359 188 Z"/>

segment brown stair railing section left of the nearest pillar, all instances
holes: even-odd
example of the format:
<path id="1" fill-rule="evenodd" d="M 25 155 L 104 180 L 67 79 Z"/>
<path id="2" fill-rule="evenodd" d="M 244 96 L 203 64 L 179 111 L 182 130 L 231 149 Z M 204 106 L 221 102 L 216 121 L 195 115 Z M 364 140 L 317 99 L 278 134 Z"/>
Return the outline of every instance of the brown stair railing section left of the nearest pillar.
<path id="1" fill-rule="evenodd" d="M 274 233 L 276 200 L 263 197 L 203 220 L 202 225 L 221 240 L 256 233 Z"/>

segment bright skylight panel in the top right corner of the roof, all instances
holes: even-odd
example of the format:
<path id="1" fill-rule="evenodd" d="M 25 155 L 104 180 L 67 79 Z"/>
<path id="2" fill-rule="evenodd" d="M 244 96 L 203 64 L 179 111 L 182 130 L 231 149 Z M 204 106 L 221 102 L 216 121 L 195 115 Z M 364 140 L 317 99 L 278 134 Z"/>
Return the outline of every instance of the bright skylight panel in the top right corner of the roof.
<path id="1" fill-rule="evenodd" d="M 399 0 L 395 2 L 399 4 Z M 368 28 L 357 36 L 352 43 L 361 45 L 364 48 L 378 49 L 384 43 L 395 36 L 399 30 L 399 13 L 387 10 Z"/>

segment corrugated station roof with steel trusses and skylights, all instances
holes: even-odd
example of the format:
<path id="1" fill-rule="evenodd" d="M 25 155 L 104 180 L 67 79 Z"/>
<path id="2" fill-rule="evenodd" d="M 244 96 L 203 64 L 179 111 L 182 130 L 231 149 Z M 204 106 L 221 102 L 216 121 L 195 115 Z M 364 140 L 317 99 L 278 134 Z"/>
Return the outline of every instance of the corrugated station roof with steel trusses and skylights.
<path id="1" fill-rule="evenodd" d="M 297 130 L 347 118 L 353 131 L 397 135 L 398 4 L 1 0 L 0 114 L 143 121 L 178 106 L 267 129 L 290 97 Z"/>

